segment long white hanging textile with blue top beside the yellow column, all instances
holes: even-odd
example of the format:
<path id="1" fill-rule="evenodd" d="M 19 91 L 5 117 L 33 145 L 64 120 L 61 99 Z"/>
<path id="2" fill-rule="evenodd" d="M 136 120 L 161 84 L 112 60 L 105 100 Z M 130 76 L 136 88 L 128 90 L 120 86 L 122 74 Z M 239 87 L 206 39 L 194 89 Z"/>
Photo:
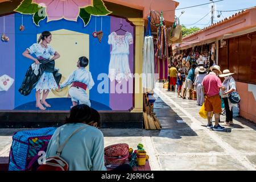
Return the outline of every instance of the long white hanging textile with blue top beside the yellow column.
<path id="1" fill-rule="evenodd" d="M 143 48 L 143 76 L 142 86 L 143 92 L 150 92 L 155 88 L 155 67 L 154 67 L 154 43 L 150 30 L 151 18 L 148 16 L 147 32 L 144 38 Z"/>

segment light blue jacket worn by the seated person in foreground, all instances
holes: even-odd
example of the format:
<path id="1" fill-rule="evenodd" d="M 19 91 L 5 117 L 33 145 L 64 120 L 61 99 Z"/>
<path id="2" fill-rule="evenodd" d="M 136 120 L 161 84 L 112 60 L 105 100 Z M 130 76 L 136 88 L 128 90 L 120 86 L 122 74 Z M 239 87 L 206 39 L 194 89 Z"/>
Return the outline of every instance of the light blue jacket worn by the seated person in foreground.
<path id="1" fill-rule="evenodd" d="M 106 171 L 104 166 L 104 136 L 96 127 L 83 123 L 68 123 L 60 126 L 60 145 L 82 126 L 87 127 L 69 139 L 61 152 L 61 158 L 68 163 L 69 171 Z M 57 130 L 48 144 L 46 158 L 56 155 Z"/>

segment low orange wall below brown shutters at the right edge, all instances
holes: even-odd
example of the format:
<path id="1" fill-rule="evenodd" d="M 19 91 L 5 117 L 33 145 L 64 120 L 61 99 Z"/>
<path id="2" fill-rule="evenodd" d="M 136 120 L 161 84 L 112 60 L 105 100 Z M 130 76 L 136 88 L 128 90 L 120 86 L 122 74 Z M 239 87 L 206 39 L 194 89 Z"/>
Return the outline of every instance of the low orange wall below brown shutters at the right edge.
<path id="1" fill-rule="evenodd" d="M 248 84 L 236 82 L 237 92 L 240 94 L 240 115 L 256 123 L 256 101 L 252 92 L 248 91 Z"/>

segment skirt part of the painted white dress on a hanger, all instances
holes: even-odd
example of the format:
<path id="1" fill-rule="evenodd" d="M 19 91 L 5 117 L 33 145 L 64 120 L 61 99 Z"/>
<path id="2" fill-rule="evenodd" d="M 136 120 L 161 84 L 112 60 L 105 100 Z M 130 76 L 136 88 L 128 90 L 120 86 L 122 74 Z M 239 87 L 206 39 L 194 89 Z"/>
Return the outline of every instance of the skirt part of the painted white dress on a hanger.
<path id="1" fill-rule="evenodd" d="M 133 77 L 129 66 L 129 55 L 112 54 L 109 63 L 110 81 L 117 80 L 117 82 L 121 82 L 123 79 L 128 81 L 129 77 Z"/>

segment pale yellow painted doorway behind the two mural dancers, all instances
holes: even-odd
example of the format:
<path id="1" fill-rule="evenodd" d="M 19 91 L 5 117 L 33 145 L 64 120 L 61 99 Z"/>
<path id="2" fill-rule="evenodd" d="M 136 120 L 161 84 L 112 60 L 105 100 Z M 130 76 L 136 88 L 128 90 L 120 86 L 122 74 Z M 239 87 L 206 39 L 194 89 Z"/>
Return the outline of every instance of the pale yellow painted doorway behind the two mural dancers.
<path id="1" fill-rule="evenodd" d="M 79 57 L 86 56 L 89 59 L 89 35 L 81 34 L 69 30 L 52 31 L 51 46 L 60 54 L 60 58 L 55 61 L 55 68 L 61 73 L 61 82 L 77 69 Z M 40 34 L 38 34 L 39 38 Z M 89 59 L 90 60 L 90 59 Z M 89 65 L 86 67 L 89 71 Z M 61 90 L 55 90 L 49 93 L 48 98 L 68 97 L 69 86 Z M 89 90 L 86 90 L 89 96 Z"/>

